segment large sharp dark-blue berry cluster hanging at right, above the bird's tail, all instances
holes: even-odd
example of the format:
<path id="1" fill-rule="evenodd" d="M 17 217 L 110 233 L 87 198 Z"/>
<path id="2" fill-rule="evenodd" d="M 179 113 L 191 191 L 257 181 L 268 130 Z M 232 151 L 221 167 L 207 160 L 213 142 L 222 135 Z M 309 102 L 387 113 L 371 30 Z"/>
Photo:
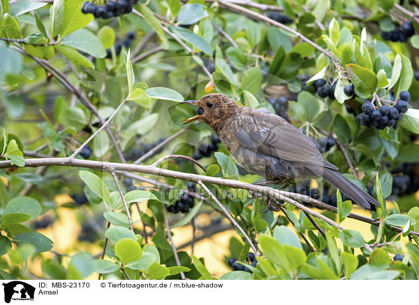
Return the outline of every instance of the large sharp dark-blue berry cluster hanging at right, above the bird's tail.
<path id="1" fill-rule="evenodd" d="M 409 109 L 410 94 L 407 91 L 400 92 L 400 99 L 395 106 L 381 106 L 378 109 L 369 101 L 362 104 L 362 113 L 357 118 L 361 125 L 366 127 L 376 127 L 376 129 L 384 129 L 387 127 L 395 127 L 396 122 L 403 117 Z"/>

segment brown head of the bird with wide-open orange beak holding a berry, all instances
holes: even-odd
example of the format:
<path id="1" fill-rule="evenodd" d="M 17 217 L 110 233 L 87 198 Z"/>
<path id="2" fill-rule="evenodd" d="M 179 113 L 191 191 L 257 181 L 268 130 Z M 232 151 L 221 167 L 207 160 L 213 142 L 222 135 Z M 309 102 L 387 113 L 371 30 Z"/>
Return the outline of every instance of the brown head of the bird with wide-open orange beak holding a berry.
<path id="1" fill-rule="evenodd" d="M 198 106 L 198 115 L 189 118 L 183 124 L 200 120 L 210 125 L 212 129 L 216 129 L 220 122 L 226 120 L 240 107 L 233 99 L 221 93 L 207 94 L 198 99 L 198 101 L 182 101 L 180 104 Z"/>

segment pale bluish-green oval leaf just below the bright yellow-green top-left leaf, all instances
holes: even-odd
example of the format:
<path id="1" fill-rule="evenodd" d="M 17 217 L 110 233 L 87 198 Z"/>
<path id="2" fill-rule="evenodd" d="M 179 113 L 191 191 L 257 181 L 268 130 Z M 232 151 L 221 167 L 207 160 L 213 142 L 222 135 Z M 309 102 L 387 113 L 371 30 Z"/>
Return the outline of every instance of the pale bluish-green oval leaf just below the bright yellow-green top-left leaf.
<path id="1" fill-rule="evenodd" d="M 93 57 L 103 58 L 106 56 L 106 50 L 103 48 L 102 42 L 95 34 L 87 29 L 78 29 L 64 37 L 61 45 L 78 49 Z"/>

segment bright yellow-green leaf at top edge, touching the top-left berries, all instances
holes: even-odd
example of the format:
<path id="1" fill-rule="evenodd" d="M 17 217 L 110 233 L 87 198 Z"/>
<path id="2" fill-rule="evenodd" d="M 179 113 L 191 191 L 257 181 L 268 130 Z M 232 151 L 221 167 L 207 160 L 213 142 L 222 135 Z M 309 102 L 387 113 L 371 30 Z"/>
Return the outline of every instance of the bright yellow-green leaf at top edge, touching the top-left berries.
<path id="1" fill-rule="evenodd" d="M 64 20 L 60 31 L 61 38 L 82 29 L 94 19 L 93 14 L 82 13 L 84 0 L 64 1 Z"/>

